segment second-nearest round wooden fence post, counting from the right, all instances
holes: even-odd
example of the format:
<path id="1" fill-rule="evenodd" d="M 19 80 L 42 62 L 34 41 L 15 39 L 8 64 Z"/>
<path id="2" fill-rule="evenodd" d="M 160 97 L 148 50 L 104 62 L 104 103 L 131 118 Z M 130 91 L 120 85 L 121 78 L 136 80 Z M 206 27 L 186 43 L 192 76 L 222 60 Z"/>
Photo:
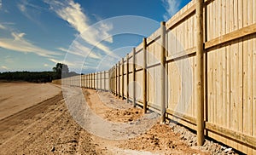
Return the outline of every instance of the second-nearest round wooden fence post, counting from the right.
<path id="1" fill-rule="evenodd" d="M 166 22 L 160 24 L 160 104 L 161 119 L 160 123 L 166 123 Z"/>

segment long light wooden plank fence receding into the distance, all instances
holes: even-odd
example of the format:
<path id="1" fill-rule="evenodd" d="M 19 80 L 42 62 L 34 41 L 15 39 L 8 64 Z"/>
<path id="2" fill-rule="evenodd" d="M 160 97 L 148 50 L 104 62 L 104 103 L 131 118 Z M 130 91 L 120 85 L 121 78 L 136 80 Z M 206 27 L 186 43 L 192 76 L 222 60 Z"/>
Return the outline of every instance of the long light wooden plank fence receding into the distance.
<path id="1" fill-rule="evenodd" d="M 62 84 L 108 90 L 256 154 L 255 9 L 256 0 L 193 0 L 108 71 Z"/>

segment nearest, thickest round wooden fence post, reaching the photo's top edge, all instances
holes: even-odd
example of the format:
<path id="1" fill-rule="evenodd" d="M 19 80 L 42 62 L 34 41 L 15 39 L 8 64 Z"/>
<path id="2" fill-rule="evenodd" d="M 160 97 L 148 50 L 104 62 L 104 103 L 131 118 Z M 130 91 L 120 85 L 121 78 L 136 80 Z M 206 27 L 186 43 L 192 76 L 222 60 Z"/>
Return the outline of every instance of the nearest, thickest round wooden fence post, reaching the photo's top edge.
<path id="1" fill-rule="evenodd" d="M 196 0 L 196 101 L 197 144 L 202 146 L 204 138 L 204 87 L 203 87 L 203 0 Z"/>

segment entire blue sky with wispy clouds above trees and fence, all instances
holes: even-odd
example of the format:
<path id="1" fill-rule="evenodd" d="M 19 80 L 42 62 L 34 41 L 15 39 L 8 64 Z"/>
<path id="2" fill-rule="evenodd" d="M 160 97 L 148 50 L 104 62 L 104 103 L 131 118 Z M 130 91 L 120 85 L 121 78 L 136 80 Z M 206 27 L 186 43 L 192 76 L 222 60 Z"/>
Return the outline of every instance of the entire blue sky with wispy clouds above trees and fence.
<path id="1" fill-rule="evenodd" d="M 0 0 L 0 72 L 106 70 L 189 0 Z"/>

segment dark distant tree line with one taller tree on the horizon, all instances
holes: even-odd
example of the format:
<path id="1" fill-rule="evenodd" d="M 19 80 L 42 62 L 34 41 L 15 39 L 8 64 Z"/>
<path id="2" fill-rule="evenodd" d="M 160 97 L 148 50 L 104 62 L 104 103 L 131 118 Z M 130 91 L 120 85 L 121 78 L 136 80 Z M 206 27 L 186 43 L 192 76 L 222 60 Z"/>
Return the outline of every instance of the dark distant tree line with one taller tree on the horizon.
<path id="1" fill-rule="evenodd" d="M 26 81 L 30 83 L 51 83 L 52 80 L 79 75 L 69 72 L 66 64 L 57 63 L 52 72 L 0 72 L 0 79 L 7 81 Z"/>

